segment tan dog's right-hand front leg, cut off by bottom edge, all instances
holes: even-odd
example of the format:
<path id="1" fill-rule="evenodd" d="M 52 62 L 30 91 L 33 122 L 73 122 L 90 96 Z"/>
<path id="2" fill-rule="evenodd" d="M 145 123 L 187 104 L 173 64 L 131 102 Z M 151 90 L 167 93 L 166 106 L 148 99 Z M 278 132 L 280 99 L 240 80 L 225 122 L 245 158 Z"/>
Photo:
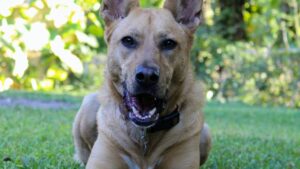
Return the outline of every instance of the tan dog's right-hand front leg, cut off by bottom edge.
<path id="1" fill-rule="evenodd" d="M 199 136 L 200 133 L 167 151 L 157 169 L 199 169 Z"/>

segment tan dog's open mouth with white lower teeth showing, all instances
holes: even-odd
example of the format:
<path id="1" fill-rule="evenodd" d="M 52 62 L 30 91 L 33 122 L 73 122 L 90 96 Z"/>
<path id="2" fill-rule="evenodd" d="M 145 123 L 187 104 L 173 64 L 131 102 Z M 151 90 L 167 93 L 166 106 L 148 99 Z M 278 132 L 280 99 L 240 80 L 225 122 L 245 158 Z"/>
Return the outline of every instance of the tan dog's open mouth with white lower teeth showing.
<path id="1" fill-rule="evenodd" d="M 129 120 L 144 128 L 155 125 L 163 109 L 163 100 L 147 93 L 132 95 L 126 92 L 124 104 L 128 110 Z"/>

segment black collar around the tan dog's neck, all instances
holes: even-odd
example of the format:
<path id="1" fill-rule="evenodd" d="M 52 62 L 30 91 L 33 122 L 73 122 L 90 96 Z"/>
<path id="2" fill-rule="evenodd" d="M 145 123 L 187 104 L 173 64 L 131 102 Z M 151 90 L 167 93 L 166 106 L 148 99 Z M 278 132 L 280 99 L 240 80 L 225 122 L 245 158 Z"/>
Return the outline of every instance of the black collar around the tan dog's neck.
<path id="1" fill-rule="evenodd" d="M 176 108 L 172 113 L 162 116 L 156 124 L 147 129 L 147 133 L 155 133 L 162 130 L 168 130 L 176 126 L 180 121 L 180 113 Z"/>

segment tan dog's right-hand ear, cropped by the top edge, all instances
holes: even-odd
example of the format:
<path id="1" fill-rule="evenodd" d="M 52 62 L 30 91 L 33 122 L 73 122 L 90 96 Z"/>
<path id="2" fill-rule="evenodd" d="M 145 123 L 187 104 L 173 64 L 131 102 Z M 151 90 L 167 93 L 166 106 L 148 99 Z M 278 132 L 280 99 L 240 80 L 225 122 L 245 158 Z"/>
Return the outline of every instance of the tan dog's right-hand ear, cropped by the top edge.
<path id="1" fill-rule="evenodd" d="M 164 8 L 171 11 L 177 22 L 195 32 L 201 22 L 203 0 L 166 0 Z"/>

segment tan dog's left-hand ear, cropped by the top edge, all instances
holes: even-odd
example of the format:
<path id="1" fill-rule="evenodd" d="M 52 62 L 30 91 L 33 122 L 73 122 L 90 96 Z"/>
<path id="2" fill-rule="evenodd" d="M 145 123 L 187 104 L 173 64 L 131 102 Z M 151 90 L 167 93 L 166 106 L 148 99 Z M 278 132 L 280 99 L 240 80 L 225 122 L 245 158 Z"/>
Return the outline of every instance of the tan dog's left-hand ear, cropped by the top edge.
<path id="1" fill-rule="evenodd" d="M 138 0 L 102 0 L 101 15 L 109 26 L 115 20 L 126 17 L 130 10 L 138 6 Z"/>

